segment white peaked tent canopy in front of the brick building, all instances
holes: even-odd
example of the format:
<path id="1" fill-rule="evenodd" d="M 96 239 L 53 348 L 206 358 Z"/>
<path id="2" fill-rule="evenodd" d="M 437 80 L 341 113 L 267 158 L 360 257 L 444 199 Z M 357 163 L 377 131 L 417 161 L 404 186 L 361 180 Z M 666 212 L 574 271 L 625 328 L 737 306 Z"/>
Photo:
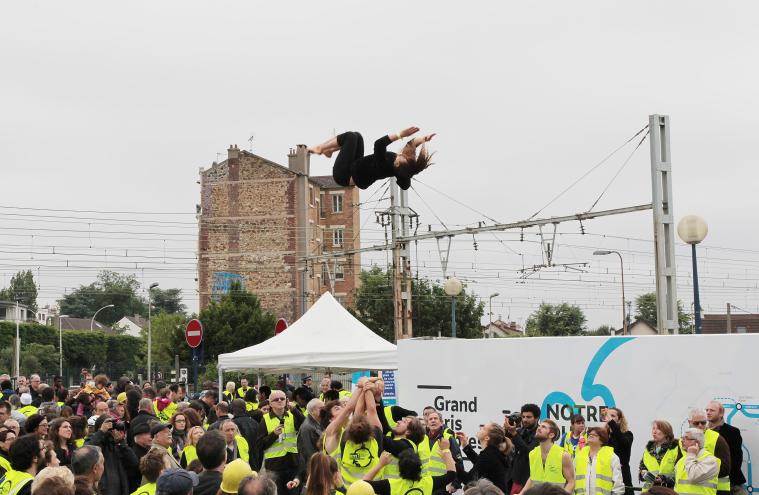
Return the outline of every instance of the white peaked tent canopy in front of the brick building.
<path id="1" fill-rule="evenodd" d="M 394 370 L 396 346 L 369 330 L 326 292 L 287 330 L 239 351 L 219 355 L 219 371 L 334 372 Z"/>

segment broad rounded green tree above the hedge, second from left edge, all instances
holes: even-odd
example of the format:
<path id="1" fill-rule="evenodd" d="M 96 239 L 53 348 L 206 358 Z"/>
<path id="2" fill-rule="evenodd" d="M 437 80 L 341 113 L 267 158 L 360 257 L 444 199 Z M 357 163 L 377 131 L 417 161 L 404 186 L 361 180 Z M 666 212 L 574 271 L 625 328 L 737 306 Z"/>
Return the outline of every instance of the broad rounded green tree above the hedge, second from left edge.
<path id="1" fill-rule="evenodd" d="M 61 313 L 76 318 L 92 318 L 95 311 L 113 304 L 98 313 L 98 321 L 112 325 L 125 315 L 147 314 L 145 301 L 137 295 L 140 283 L 134 275 L 121 275 L 104 270 L 90 285 L 82 285 L 58 300 Z"/>

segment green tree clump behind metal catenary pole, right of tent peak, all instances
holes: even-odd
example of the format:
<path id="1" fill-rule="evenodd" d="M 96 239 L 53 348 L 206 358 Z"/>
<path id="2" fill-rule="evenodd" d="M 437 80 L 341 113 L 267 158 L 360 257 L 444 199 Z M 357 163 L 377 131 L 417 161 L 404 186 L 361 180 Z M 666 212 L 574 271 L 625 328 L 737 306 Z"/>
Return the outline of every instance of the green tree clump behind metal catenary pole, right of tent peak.
<path id="1" fill-rule="evenodd" d="M 359 277 L 361 284 L 354 291 L 354 307 L 349 311 L 376 334 L 394 341 L 392 273 L 375 266 Z M 443 286 L 426 279 L 413 280 L 411 293 L 414 336 L 451 335 L 451 296 Z M 471 292 L 462 291 L 456 298 L 456 336 L 482 337 L 483 313 L 484 304 Z"/>

